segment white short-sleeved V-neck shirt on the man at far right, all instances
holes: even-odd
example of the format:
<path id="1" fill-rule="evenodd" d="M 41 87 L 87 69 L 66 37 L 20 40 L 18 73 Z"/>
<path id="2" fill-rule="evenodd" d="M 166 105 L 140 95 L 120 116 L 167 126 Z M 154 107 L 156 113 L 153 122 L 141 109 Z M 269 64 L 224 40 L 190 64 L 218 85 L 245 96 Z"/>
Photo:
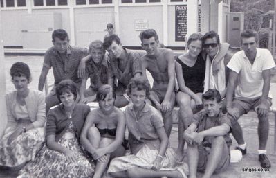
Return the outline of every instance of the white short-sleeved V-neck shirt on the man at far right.
<path id="1" fill-rule="evenodd" d="M 262 71 L 275 67 L 273 57 L 267 49 L 257 48 L 255 61 L 250 63 L 244 51 L 233 55 L 227 67 L 239 74 L 235 98 L 255 98 L 262 95 L 264 79 Z M 269 94 L 271 98 L 271 94 Z"/>

